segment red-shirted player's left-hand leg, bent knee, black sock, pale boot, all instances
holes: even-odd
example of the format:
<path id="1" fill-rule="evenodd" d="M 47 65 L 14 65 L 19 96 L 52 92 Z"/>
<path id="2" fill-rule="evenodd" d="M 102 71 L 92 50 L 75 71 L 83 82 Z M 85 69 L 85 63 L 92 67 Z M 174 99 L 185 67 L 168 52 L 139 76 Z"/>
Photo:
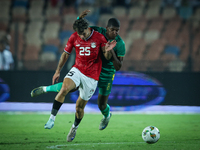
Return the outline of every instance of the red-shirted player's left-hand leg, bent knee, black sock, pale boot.
<path id="1" fill-rule="evenodd" d="M 44 126 L 45 129 L 53 128 L 56 115 L 65 100 L 65 96 L 69 93 L 70 90 L 74 89 L 75 87 L 76 85 L 73 80 L 69 78 L 64 79 L 62 88 L 60 92 L 56 95 L 56 98 L 54 100 L 53 108 L 51 110 L 51 116 Z"/>

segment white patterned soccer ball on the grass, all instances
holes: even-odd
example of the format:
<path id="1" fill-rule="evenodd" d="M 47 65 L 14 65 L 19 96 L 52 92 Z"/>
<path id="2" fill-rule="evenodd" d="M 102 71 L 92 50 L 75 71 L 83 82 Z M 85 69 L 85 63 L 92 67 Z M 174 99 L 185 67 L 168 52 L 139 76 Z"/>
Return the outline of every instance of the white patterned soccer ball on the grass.
<path id="1" fill-rule="evenodd" d="M 160 138 L 160 131 L 154 126 L 148 126 L 142 131 L 142 138 L 146 143 L 156 143 Z"/>

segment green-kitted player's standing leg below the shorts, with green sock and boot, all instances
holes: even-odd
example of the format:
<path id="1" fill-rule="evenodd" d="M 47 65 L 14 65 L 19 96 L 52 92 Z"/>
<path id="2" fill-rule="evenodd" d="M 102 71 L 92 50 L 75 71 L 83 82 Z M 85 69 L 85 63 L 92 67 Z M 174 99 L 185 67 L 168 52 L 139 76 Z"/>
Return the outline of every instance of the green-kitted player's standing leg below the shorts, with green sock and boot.
<path id="1" fill-rule="evenodd" d="M 99 130 L 103 130 L 107 127 L 112 116 L 112 114 L 110 113 L 110 106 L 107 104 L 108 97 L 109 95 L 98 95 L 98 107 L 101 110 L 101 113 L 104 115 L 99 125 Z"/>

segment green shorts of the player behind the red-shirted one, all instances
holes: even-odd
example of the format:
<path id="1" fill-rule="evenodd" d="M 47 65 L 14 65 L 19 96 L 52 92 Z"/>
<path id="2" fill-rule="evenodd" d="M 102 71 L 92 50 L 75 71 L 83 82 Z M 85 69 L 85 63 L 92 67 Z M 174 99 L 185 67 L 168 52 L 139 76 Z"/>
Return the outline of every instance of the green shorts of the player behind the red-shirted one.
<path id="1" fill-rule="evenodd" d="M 113 74 L 112 78 L 107 78 L 107 79 L 100 78 L 98 82 L 99 94 L 103 96 L 107 96 L 111 93 L 114 77 L 115 77 L 115 74 Z"/>

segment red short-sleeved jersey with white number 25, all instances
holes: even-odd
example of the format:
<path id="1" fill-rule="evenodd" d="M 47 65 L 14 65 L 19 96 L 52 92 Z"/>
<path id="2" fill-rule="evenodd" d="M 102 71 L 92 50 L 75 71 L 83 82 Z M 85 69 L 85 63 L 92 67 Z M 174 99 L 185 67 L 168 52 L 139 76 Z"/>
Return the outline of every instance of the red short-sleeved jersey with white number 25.
<path id="1" fill-rule="evenodd" d="M 76 67 L 84 75 L 99 80 L 102 67 L 100 51 L 105 43 L 107 40 L 97 31 L 92 30 L 91 35 L 86 40 L 82 40 L 75 32 L 70 36 L 64 51 L 70 54 L 75 47 L 76 58 L 73 67 Z"/>

